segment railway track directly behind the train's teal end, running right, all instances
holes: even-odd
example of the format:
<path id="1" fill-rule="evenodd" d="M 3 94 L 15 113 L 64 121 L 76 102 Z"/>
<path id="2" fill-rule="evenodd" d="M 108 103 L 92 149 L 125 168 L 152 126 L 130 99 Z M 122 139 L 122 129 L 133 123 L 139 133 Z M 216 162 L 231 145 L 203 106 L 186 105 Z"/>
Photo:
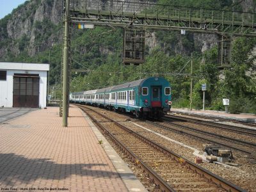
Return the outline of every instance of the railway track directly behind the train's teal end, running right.
<path id="1" fill-rule="evenodd" d="M 239 150 L 246 154 L 253 155 L 256 150 L 256 144 L 250 143 L 243 140 L 237 140 L 234 138 L 229 138 L 227 136 L 222 136 L 220 134 L 214 134 L 212 132 L 202 131 L 185 125 L 173 124 L 172 122 L 150 122 L 149 124 L 156 125 L 168 131 L 178 132 L 180 134 L 186 134 L 192 136 L 193 138 L 198 138 L 200 140 L 205 140 L 209 143 L 220 145 L 227 148 L 232 148 Z"/>

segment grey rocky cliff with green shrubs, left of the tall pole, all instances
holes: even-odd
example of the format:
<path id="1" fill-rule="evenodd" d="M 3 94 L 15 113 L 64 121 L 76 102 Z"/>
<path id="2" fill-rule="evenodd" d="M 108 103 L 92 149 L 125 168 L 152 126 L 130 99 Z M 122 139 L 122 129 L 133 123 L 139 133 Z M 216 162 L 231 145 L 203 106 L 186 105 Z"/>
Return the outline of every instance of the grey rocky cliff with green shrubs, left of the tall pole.
<path id="1" fill-rule="evenodd" d="M 42 51 L 50 47 L 53 40 L 61 42 L 60 31 L 53 31 L 60 25 L 63 9 L 62 1 L 58 0 L 31 0 L 26 1 L 13 11 L 6 24 L 0 26 L 5 35 L 1 35 L 1 41 L 8 39 L 8 45 L 0 46 L 0 58 L 4 58 L 7 52 L 12 52 L 17 56 L 20 51 L 26 49 L 28 54 L 33 56 L 36 51 Z M 45 28 L 47 23 L 51 29 Z M 43 41 L 40 36 L 45 32 L 49 33 Z M 8 48 L 6 48 L 8 47 Z"/>

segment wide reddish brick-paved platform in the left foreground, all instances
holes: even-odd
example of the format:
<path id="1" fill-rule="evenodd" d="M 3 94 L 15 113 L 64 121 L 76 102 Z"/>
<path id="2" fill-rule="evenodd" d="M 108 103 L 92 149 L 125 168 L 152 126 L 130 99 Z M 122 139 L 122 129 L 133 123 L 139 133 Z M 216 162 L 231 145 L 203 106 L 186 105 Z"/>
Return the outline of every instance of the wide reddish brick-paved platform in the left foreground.
<path id="1" fill-rule="evenodd" d="M 0 124 L 0 191 L 147 191 L 80 109 L 69 115 L 68 127 L 56 107 Z"/>

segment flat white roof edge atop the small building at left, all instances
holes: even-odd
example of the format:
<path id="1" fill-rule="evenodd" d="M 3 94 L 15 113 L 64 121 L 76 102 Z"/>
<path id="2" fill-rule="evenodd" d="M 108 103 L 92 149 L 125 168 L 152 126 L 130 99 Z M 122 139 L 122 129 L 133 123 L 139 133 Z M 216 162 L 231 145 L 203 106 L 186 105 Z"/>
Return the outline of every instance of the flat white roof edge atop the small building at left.
<path id="1" fill-rule="evenodd" d="M 50 65 L 44 63 L 12 63 L 0 62 L 0 70 L 44 70 L 49 71 Z"/>

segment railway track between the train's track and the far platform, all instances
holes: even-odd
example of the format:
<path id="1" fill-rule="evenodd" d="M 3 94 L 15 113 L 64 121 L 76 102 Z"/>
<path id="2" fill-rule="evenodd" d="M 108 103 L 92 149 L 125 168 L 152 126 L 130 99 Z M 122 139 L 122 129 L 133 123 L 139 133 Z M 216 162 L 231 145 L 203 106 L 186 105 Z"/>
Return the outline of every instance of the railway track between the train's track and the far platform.
<path id="1" fill-rule="evenodd" d="M 199 125 L 207 125 L 207 126 L 211 126 L 211 127 L 215 127 L 218 129 L 224 129 L 227 131 L 232 131 L 232 132 L 237 132 L 239 134 L 246 134 L 248 136 L 253 136 L 256 137 L 256 129 L 248 129 L 248 128 L 244 128 L 244 127 L 238 127 L 238 126 L 234 126 L 234 125 L 223 125 L 223 124 L 219 124 L 216 122 L 209 122 L 209 121 L 204 121 L 204 120 L 198 120 L 195 118 L 189 118 L 189 117 L 184 117 L 184 116 L 176 116 L 176 115 L 168 115 L 168 116 L 164 116 L 163 120 L 166 121 L 170 121 L 170 120 L 183 120 L 186 122 L 193 122 L 195 124 L 199 124 Z"/>

